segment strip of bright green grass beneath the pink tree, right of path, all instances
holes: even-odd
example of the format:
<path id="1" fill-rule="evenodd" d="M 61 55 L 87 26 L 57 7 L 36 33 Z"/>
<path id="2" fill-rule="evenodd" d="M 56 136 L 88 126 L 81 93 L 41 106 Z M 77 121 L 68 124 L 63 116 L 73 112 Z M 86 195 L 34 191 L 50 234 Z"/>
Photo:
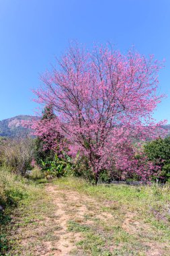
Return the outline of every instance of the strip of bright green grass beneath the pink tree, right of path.
<path id="1" fill-rule="evenodd" d="M 86 193 L 89 196 L 97 197 L 99 200 L 109 200 L 110 205 L 118 207 L 118 205 L 126 205 L 129 210 L 140 210 L 145 212 L 151 210 L 152 207 L 165 210 L 165 207 L 170 203 L 170 186 L 159 187 L 141 186 L 134 187 L 130 185 L 97 185 L 93 186 L 75 178 L 62 178 L 54 181 L 55 184 L 60 185 L 63 189 L 69 187 L 79 191 L 79 193 Z M 169 211 L 167 211 L 167 217 Z"/>

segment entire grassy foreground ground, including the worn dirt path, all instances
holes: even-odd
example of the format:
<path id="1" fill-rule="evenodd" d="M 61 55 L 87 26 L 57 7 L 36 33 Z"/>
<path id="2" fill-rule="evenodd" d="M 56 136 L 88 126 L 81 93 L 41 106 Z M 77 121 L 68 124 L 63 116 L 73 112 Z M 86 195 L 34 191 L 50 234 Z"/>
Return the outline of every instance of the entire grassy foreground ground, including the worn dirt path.
<path id="1" fill-rule="evenodd" d="M 44 189 L 38 173 L 32 181 L 0 171 L 0 255 L 54 255 L 67 246 L 82 256 L 169 255 L 168 185 L 93 186 L 68 177 Z"/>

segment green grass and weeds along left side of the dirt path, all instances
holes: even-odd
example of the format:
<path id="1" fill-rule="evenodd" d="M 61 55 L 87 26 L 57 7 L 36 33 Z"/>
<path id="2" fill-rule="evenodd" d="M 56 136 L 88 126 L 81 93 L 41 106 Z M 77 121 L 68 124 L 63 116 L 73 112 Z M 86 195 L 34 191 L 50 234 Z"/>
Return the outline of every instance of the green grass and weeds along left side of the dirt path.
<path id="1" fill-rule="evenodd" d="M 51 207 L 43 185 L 1 169 L 0 205 L 0 255 L 24 255 L 20 243 L 26 239 L 24 230 L 32 232 Z"/>

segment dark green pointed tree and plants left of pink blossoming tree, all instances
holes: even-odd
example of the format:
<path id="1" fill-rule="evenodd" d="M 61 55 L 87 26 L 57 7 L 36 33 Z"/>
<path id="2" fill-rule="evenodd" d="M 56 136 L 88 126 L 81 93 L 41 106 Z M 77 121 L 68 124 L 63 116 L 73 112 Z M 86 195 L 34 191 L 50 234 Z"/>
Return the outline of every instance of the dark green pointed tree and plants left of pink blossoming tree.
<path id="1" fill-rule="evenodd" d="M 35 140 L 34 159 L 36 163 L 46 172 L 46 177 L 61 177 L 71 168 L 71 158 L 60 151 L 60 144 L 64 137 L 60 135 L 56 127 L 48 127 L 48 123 L 52 123 L 56 116 L 53 112 L 52 104 L 45 106 L 42 111 L 42 119 L 34 123 L 34 129 L 37 135 Z M 49 127 L 48 127 L 49 128 Z M 55 147 L 54 147 L 55 144 Z M 60 157 L 58 157 L 60 155 Z M 62 158 L 61 158 L 62 156 Z"/>

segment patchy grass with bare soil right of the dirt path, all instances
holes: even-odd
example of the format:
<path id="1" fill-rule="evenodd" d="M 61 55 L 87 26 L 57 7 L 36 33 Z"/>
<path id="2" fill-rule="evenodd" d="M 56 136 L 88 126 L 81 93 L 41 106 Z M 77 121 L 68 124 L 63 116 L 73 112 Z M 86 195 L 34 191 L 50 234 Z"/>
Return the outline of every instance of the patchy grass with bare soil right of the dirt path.
<path id="1" fill-rule="evenodd" d="M 169 186 L 95 187 L 74 178 L 54 183 L 62 192 L 73 190 L 95 200 L 87 203 L 83 221 L 68 223 L 68 230 L 82 237 L 73 255 L 169 255 Z"/>

